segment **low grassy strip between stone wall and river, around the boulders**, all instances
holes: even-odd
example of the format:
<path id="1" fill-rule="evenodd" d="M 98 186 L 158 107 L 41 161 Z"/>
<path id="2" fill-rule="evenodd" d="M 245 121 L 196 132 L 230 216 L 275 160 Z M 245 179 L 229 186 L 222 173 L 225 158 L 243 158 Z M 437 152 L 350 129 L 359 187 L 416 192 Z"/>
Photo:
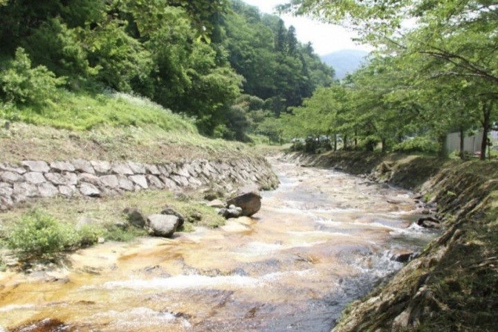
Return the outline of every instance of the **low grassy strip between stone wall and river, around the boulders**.
<path id="1" fill-rule="evenodd" d="M 124 208 L 136 207 L 146 216 L 160 213 L 165 206 L 185 216 L 177 232 L 191 232 L 196 225 L 217 228 L 225 219 L 201 201 L 200 193 L 178 198 L 172 192 L 148 190 L 103 199 L 41 199 L 2 214 L 2 247 L 9 248 L 21 261 L 54 258 L 63 252 L 106 241 L 132 241 L 147 236 L 147 230 L 127 224 Z M 80 219 L 91 222 L 77 227 Z M 0 270 L 3 266 L 0 256 Z"/>

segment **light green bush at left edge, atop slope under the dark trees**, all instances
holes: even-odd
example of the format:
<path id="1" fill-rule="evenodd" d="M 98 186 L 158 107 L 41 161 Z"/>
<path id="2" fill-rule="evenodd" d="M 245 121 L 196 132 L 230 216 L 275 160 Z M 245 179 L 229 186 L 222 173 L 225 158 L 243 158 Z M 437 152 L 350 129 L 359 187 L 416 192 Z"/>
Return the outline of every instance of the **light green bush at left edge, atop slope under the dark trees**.
<path id="1" fill-rule="evenodd" d="M 0 82 L 6 101 L 42 105 L 64 84 L 64 78 L 55 77 L 45 66 L 31 68 L 25 50 L 17 48 L 15 59 L 0 72 Z"/>

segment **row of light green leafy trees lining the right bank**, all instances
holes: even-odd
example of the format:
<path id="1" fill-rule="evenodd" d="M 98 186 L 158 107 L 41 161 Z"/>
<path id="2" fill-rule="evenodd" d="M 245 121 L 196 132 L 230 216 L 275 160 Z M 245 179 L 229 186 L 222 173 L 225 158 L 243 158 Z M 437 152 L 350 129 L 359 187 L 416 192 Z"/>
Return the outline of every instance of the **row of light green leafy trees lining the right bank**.
<path id="1" fill-rule="evenodd" d="M 483 130 L 486 151 L 497 120 L 496 1 L 299 0 L 281 9 L 348 24 L 376 47 L 367 65 L 280 119 L 286 136 L 445 154 L 448 133 Z"/>

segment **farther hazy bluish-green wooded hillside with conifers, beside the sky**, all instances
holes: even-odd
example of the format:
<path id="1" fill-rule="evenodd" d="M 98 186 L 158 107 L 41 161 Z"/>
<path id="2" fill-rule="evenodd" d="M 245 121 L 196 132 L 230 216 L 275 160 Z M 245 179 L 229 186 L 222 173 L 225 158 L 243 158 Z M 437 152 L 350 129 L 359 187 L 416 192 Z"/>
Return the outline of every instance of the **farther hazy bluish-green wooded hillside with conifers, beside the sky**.
<path id="1" fill-rule="evenodd" d="M 276 116 L 309 97 L 317 86 L 333 82 L 333 69 L 297 42 L 295 28 L 273 15 L 263 15 L 241 1 L 233 1 L 234 13 L 225 19 L 230 64 L 246 79 L 243 92 L 273 102 Z"/>

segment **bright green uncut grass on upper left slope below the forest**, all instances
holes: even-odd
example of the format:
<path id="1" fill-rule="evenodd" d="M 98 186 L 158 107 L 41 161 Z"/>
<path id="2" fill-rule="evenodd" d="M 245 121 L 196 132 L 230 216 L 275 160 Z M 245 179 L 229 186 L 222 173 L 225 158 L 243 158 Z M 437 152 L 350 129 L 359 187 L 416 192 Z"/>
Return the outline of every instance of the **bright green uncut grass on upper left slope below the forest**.
<path id="1" fill-rule="evenodd" d="M 60 90 L 44 107 L 3 105 L 0 117 L 57 129 L 85 131 L 100 126 L 146 127 L 165 131 L 197 133 L 194 122 L 145 98 L 124 93 L 87 95 Z"/>

